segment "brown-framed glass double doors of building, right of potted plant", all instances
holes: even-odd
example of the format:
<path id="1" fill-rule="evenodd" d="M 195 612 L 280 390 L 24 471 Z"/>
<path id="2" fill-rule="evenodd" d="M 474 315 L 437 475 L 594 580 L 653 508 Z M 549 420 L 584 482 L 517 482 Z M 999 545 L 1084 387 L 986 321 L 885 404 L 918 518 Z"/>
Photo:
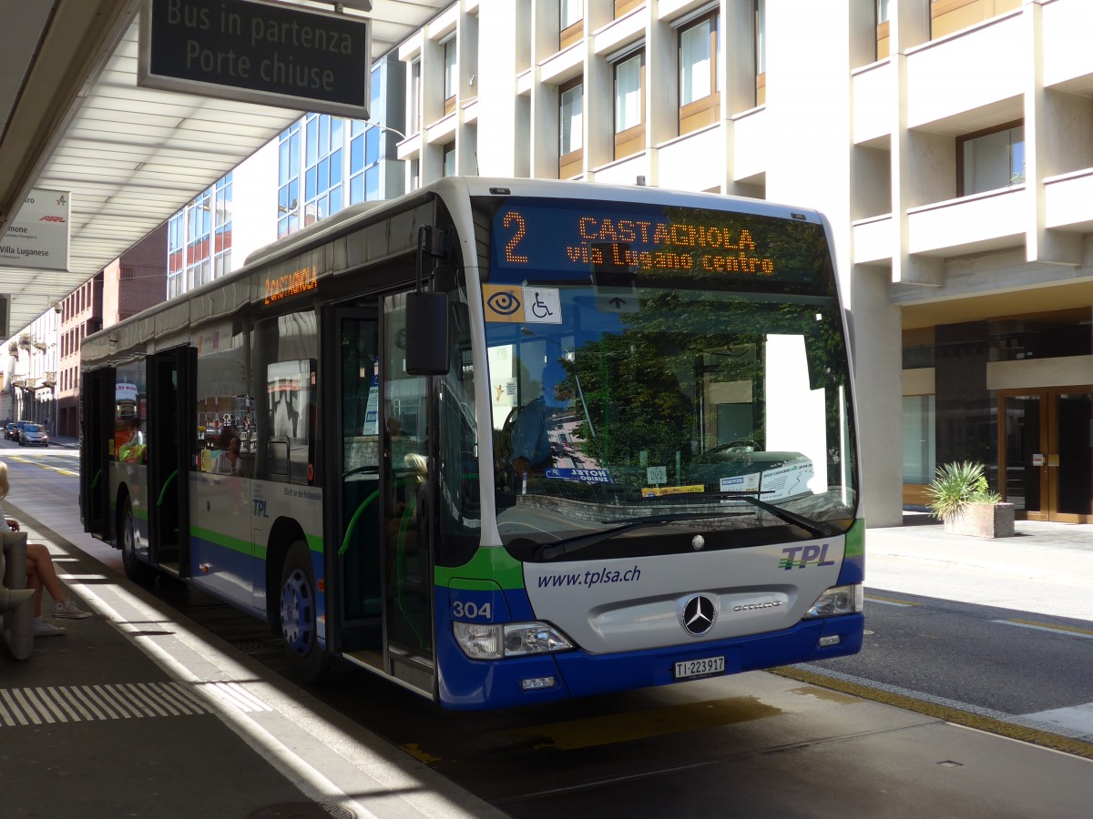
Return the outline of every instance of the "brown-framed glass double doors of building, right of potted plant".
<path id="1" fill-rule="evenodd" d="M 1018 519 L 1093 523 L 1093 388 L 998 396 L 999 492 Z"/>

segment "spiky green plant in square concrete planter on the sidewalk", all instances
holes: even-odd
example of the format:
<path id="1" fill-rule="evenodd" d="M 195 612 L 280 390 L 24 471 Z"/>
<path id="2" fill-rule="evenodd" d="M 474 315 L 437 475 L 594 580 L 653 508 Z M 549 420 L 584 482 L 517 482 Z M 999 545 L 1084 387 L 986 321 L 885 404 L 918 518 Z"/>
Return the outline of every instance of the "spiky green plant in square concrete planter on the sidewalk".
<path id="1" fill-rule="evenodd" d="M 973 537 L 1013 537 L 1013 505 L 991 491 L 983 464 L 942 464 L 926 488 L 930 514 L 944 521 L 945 532 Z"/>

